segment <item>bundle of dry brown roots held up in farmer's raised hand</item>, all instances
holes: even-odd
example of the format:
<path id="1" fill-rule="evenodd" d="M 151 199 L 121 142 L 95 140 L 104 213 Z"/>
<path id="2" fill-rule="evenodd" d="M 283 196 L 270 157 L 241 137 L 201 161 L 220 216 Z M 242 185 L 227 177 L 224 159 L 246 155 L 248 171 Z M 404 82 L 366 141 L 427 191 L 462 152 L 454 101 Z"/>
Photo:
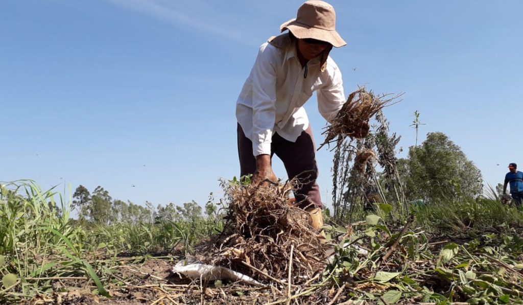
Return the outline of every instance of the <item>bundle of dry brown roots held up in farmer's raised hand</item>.
<path id="1" fill-rule="evenodd" d="M 388 96 L 376 96 L 372 92 L 367 92 L 365 87 L 361 87 L 349 94 L 347 101 L 343 104 L 342 109 L 339 110 L 336 118 L 322 132 L 322 134 L 325 134 L 325 141 L 320 145 L 320 148 L 325 144 L 332 143 L 338 136 L 339 139 L 343 139 L 346 136 L 352 139 L 365 138 L 369 133 L 370 118 L 400 95 L 386 98 Z"/>

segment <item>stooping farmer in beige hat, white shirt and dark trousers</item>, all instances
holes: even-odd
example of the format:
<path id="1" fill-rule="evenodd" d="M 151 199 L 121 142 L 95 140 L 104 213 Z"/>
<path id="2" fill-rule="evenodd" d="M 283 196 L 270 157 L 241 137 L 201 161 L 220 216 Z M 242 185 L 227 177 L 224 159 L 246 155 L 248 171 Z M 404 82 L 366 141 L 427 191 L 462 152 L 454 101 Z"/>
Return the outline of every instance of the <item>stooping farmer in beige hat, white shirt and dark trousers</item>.
<path id="1" fill-rule="evenodd" d="M 311 0 L 297 18 L 280 26 L 283 33 L 262 44 L 236 102 L 241 176 L 253 183 L 277 181 L 271 157 L 276 154 L 289 179 L 298 180 L 294 197 L 311 215 L 311 225 L 323 224 L 314 139 L 303 104 L 316 92 L 320 114 L 331 122 L 345 102 L 342 74 L 329 57 L 346 42 L 335 29 L 334 8 Z"/>

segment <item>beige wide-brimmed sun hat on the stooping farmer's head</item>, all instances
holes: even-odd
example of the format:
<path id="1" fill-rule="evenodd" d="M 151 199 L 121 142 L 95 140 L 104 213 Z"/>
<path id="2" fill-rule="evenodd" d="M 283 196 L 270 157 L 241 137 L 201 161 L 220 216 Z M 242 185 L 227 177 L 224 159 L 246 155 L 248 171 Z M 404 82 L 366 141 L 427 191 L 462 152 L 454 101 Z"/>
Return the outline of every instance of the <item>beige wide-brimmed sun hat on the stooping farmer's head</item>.
<path id="1" fill-rule="evenodd" d="M 296 38 L 314 38 L 331 43 L 339 48 L 347 43 L 336 32 L 336 13 L 332 5 L 309 0 L 298 9 L 298 15 L 280 26 L 283 32 L 289 30 Z"/>

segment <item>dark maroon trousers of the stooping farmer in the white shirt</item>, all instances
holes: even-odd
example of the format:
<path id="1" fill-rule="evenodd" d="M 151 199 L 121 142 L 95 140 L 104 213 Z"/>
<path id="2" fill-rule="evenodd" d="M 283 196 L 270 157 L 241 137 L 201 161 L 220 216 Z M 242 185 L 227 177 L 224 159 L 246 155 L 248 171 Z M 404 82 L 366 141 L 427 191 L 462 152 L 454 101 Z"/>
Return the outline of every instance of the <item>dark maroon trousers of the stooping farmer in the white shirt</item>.
<path id="1" fill-rule="evenodd" d="M 253 155 L 253 142 L 245 137 L 240 124 L 237 127 L 237 134 L 240 175 L 254 174 L 256 159 Z M 271 158 L 274 154 L 283 162 L 289 179 L 296 177 L 298 180 L 298 189 L 294 192 L 297 204 L 301 208 L 310 207 L 311 204 L 321 208 L 320 187 L 316 183 L 318 177 L 316 149 L 311 127 L 304 130 L 296 142 L 287 141 L 274 132 L 270 145 Z"/>

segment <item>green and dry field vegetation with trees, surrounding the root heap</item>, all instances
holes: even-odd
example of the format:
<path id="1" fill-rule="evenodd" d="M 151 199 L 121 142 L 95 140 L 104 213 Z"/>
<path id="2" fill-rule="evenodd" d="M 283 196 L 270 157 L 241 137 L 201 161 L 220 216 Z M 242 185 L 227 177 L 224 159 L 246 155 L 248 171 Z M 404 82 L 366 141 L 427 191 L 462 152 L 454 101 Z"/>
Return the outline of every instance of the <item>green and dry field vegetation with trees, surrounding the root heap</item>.
<path id="1" fill-rule="evenodd" d="M 215 236 L 239 232 L 227 227 L 228 208 L 242 211 L 231 198 L 138 205 L 101 186 L 61 194 L 3 182 L 0 303 L 523 303 L 521 211 L 495 188 L 483 191 L 480 170 L 447 135 L 428 133 L 397 159 L 399 137 L 381 111 L 372 130 L 333 148 L 333 204 L 324 211 L 333 253 L 322 272 L 287 279 L 278 269 L 271 279 L 258 269 L 262 287 L 170 273 Z M 231 185 L 243 191 L 237 179 Z M 289 262 L 282 268 L 306 268 L 292 261 L 294 249 L 272 254 Z"/>

